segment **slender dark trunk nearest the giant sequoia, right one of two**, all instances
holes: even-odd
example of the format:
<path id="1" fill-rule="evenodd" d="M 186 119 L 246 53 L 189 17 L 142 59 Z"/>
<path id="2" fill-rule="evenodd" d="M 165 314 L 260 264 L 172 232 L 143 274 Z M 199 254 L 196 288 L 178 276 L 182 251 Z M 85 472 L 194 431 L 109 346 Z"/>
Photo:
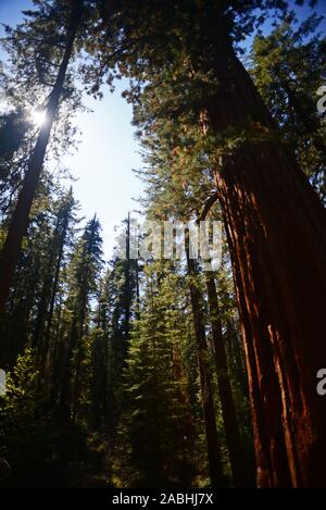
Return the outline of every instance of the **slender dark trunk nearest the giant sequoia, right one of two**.
<path id="1" fill-rule="evenodd" d="M 212 273 L 208 273 L 205 279 L 209 297 L 210 318 L 212 323 L 213 349 L 215 354 L 218 393 L 233 478 L 236 487 L 246 487 L 249 485 L 248 470 L 246 469 L 244 452 L 241 445 L 241 436 L 238 427 L 235 402 L 228 375 L 222 323 L 218 316 L 220 307 L 215 281 Z"/>

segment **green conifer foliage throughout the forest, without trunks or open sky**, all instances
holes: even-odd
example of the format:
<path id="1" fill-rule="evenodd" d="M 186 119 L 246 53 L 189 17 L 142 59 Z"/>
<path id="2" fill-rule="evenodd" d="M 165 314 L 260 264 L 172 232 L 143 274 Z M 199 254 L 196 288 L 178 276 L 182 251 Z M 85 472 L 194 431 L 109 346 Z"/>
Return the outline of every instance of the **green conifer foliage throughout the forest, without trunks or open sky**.
<path id="1" fill-rule="evenodd" d="M 7 27 L 2 41 L 10 67 L 8 74 L 1 71 L 1 86 L 15 110 L 0 115 L 1 244 L 35 135 L 28 138 L 25 109 L 36 107 L 35 98 L 43 108 L 51 97 L 72 13 L 66 0 L 34 3 L 36 11 L 26 12 L 16 28 Z M 71 119 L 82 108 L 75 64 L 86 50 L 79 71 L 90 94 L 101 96 L 103 80 L 112 86 L 114 77 L 130 79 L 124 96 L 134 107 L 143 149 L 139 174 L 147 183 L 148 217 L 197 219 L 208 199 L 217 198 L 214 171 L 216 177 L 224 157 L 246 144 L 280 141 L 278 134 L 272 140 L 269 129 L 252 121 L 254 112 L 252 119 L 250 113 L 212 129 L 208 109 L 220 90 L 221 59 L 238 49 L 268 13 L 284 13 L 286 7 L 280 0 L 84 1 L 52 154 L 72 145 Z M 271 36 L 255 38 L 251 73 L 283 138 L 323 198 L 325 125 L 311 92 L 325 75 L 325 40 L 314 35 L 314 16 L 298 29 L 292 23 L 288 15 Z M 214 203 L 210 214 L 221 219 Z M 116 486 L 208 485 L 205 395 L 200 391 L 189 286 L 198 291 L 203 312 L 203 344 L 212 339 L 212 321 L 221 321 L 249 460 L 252 447 L 226 241 L 224 265 L 215 275 L 221 309 L 210 313 L 203 275 L 186 276 L 183 262 L 139 266 L 114 254 L 103 275 L 100 223 L 95 216 L 79 234 L 75 209 L 72 192 L 45 173 L 1 318 L 2 354 L 12 369 L 0 402 L 0 453 L 12 469 L 9 485 L 78 486 L 91 484 L 95 475 L 99 484 L 111 478 Z M 217 372 L 203 344 L 200 356 L 213 372 L 217 409 L 211 425 L 216 419 L 227 463 Z"/>

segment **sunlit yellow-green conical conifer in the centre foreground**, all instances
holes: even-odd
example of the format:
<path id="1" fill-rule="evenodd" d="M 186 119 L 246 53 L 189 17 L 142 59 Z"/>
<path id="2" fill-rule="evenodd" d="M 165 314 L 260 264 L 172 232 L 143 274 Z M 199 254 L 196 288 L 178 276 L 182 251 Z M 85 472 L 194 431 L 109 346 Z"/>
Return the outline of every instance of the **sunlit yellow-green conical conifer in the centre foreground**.
<path id="1" fill-rule="evenodd" d="M 118 457 L 120 483 L 127 486 L 190 486 L 196 475 L 179 285 L 176 274 L 155 264 L 146 270 L 140 318 L 124 371 Z"/>

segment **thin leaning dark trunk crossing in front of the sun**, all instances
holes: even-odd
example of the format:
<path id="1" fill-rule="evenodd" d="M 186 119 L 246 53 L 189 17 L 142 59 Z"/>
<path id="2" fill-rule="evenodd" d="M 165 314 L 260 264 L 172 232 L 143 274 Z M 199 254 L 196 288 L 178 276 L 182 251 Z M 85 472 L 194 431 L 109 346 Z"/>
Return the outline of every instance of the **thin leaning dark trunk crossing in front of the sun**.
<path id="1" fill-rule="evenodd" d="M 46 111 L 47 121 L 40 129 L 35 149 L 30 156 L 27 172 L 23 182 L 23 188 L 20 194 L 16 209 L 13 213 L 5 244 L 1 253 L 0 313 L 3 311 L 5 302 L 8 300 L 10 288 L 13 283 L 15 268 L 21 252 L 22 239 L 27 232 L 28 216 L 41 174 L 51 128 L 55 119 L 55 114 L 58 112 L 60 98 L 63 92 L 64 79 L 67 71 L 67 65 L 73 53 L 74 41 L 79 26 L 80 16 L 82 0 L 76 0 L 75 7 L 72 11 L 70 26 L 67 29 L 66 48 Z"/>

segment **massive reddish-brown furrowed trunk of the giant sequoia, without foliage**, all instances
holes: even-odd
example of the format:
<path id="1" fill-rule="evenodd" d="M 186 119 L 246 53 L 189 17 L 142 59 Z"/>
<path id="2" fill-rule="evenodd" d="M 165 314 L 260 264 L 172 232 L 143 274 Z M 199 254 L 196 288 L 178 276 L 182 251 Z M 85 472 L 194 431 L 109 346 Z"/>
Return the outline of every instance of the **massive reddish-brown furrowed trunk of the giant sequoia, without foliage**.
<path id="1" fill-rule="evenodd" d="M 216 59 L 215 74 L 212 130 L 251 129 L 220 159 L 215 178 L 243 327 L 258 484 L 323 486 L 326 400 L 315 386 L 326 361 L 325 210 L 233 51 Z"/>

